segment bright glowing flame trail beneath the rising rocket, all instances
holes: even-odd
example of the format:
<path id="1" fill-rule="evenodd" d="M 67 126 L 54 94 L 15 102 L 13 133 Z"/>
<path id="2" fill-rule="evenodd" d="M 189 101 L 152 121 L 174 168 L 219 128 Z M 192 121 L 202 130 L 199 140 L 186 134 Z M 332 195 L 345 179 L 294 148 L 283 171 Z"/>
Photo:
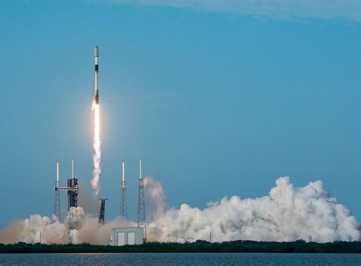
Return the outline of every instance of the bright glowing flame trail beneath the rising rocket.
<path id="1" fill-rule="evenodd" d="M 100 115 L 99 115 L 99 104 L 96 104 L 93 101 L 92 110 L 94 111 L 94 154 L 93 154 L 93 179 L 90 181 L 90 184 L 93 189 L 95 189 L 95 194 L 99 193 L 99 175 L 101 173 L 100 159 L 101 159 L 101 149 L 100 149 Z"/>

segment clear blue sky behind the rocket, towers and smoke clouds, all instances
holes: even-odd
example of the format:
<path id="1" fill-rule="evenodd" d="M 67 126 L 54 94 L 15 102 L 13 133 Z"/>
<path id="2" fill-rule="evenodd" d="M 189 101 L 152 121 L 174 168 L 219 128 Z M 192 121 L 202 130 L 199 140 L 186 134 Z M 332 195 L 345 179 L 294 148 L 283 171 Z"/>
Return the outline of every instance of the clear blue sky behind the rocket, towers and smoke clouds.
<path id="1" fill-rule="evenodd" d="M 0 226 L 52 213 L 56 161 L 65 185 L 74 157 L 92 197 L 95 45 L 106 218 L 124 160 L 135 219 L 142 157 L 171 206 L 261 197 L 290 176 L 324 181 L 361 219 L 359 4 L 179 3 L 1 2 Z"/>

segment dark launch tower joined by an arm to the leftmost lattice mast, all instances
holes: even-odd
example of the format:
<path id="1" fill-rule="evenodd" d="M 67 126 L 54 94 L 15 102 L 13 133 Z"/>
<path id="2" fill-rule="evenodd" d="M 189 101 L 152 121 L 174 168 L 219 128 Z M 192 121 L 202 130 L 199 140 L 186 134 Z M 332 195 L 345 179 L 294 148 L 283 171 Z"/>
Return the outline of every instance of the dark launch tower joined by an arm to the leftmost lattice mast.
<path id="1" fill-rule="evenodd" d="M 72 177 L 67 180 L 67 187 L 59 186 L 59 162 L 57 162 L 57 181 L 55 185 L 54 196 L 54 215 L 60 220 L 60 193 L 65 190 L 68 192 L 68 229 L 78 229 L 78 179 L 74 177 L 74 158 L 72 159 Z M 69 233 L 69 242 L 72 242 Z"/>

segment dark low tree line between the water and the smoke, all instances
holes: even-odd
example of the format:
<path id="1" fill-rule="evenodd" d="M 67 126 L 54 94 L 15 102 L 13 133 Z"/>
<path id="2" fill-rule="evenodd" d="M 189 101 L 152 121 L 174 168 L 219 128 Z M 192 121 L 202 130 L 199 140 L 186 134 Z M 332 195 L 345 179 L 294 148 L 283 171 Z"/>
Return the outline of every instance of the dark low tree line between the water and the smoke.
<path id="1" fill-rule="evenodd" d="M 143 245 L 106 246 L 82 244 L 0 244 L 0 253 L 107 253 L 107 252 L 258 252 L 258 253 L 361 253 L 361 242 L 335 241 L 315 243 L 258 242 L 250 240 L 212 243 L 197 240 L 193 243 L 149 242 Z"/>

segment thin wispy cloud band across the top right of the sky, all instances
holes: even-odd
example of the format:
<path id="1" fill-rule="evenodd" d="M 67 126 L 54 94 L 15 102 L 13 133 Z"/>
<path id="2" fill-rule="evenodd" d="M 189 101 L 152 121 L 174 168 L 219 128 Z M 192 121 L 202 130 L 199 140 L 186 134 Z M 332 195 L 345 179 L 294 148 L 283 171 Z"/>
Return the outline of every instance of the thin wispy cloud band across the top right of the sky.
<path id="1" fill-rule="evenodd" d="M 274 19 L 341 18 L 361 21 L 360 0 L 107 0 L 123 5 L 185 8 Z"/>

